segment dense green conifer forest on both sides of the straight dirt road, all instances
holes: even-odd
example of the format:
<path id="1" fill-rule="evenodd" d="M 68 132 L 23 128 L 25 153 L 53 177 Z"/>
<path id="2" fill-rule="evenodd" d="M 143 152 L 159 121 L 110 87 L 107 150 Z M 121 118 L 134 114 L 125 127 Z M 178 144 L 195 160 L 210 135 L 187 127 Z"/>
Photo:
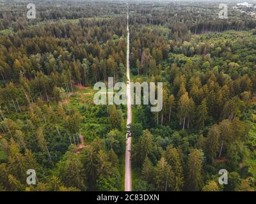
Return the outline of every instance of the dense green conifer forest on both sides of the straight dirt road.
<path id="1" fill-rule="evenodd" d="M 123 191 L 126 107 L 93 85 L 126 81 L 126 2 L 34 2 L 1 4 L 0 191 Z M 132 81 L 164 84 L 132 106 L 133 191 L 256 189 L 256 20 L 232 6 L 129 4 Z"/>

